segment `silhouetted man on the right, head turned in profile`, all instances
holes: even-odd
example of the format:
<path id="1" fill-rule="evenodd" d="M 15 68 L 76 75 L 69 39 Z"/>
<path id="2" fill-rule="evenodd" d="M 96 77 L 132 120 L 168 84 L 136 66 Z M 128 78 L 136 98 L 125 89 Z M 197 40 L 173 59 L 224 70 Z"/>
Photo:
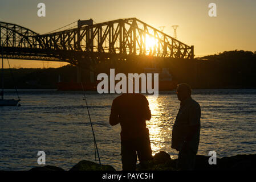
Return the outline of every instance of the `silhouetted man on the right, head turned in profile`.
<path id="1" fill-rule="evenodd" d="M 200 140 L 200 105 L 191 98 L 188 84 L 177 85 L 180 109 L 172 130 L 172 148 L 178 151 L 177 168 L 193 170 Z"/>

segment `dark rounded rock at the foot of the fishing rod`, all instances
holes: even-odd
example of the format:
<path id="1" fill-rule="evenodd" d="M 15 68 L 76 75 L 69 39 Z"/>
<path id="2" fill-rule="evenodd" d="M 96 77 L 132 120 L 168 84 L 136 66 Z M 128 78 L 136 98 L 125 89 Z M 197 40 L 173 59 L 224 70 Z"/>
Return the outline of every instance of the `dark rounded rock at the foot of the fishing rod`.
<path id="1" fill-rule="evenodd" d="M 96 164 L 88 160 L 81 160 L 78 164 L 70 169 L 70 171 L 116 171 L 109 165 Z"/>

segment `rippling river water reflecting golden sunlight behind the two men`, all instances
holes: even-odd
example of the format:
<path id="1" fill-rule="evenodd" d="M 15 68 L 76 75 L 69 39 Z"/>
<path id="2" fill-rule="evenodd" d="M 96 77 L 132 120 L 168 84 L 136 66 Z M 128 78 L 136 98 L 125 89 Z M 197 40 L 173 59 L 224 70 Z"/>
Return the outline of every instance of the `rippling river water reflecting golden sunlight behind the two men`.
<path id="1" fill-rule="evenodd" d="M 95 161 L 94 142 L 82 92 L 19 91 L 21 107 L 0 107 L 0 170 L 28 170 L 37 164 L 38 151 L 46 164 L 70 169 L 80 160 Z M 101 163 L 121 169 L 120 126 L 108 123 L 115 94 L 86 93 Z M 7 91 L 6 98 L 15 98 Z M 180 102 L 174 92 L 147 96 L 152 112 L 147 122 L 153 154 L 168 152 L 172 126 Z M 217 157 L 255 154 L 256 89 L 194 90 L 201 105 L 198 155 L 216 151 Z"/>

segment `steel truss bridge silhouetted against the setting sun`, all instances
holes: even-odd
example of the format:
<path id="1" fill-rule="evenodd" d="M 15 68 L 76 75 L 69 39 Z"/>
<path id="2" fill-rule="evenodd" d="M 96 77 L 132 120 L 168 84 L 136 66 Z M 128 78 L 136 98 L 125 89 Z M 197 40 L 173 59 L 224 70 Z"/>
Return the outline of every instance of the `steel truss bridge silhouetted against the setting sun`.
<path id="1" fill-rule="evenodd" d="M 76 28 L 48 34 L 17 24 L 0 22 L 3 58 L 65 61 L 74 65 L 92 65 L 115 57 L 132 56 L 193 59 L 194 47 L 172 38 L 136 18 L 104 23 L 78 20 Z"/>

